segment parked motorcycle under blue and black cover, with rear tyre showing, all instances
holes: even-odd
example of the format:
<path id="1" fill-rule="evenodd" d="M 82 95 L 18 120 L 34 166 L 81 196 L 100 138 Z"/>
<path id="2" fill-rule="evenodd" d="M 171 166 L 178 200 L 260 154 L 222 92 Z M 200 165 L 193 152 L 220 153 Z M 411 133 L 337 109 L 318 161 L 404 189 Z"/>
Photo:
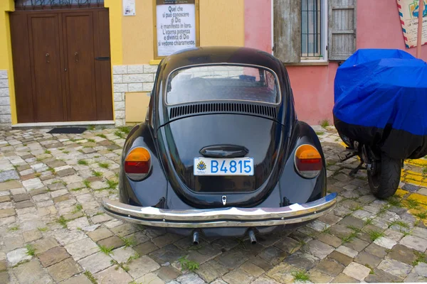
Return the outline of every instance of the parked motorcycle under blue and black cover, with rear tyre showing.
<path id="1" fill-rule="evenodd" d="M 427 155 L 426 107 L 427 64 L 403 50 L 357 50 L 339 66 L 334 125 L 377 197 L 396 192 L 404 159 Z"/>

